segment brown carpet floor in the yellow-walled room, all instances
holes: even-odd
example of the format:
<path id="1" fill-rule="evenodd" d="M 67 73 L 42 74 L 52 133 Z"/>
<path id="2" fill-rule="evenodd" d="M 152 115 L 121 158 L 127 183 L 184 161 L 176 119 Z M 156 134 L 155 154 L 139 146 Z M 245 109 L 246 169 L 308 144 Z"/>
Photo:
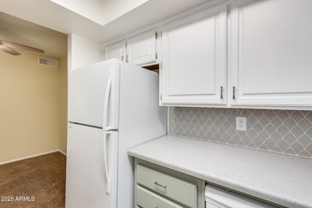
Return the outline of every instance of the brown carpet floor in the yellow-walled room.
<path id="1" fill-rule="evenodd" d="M 65 208 L 65 175 L 60 152 L 0 165 L 0 208 Z"/>

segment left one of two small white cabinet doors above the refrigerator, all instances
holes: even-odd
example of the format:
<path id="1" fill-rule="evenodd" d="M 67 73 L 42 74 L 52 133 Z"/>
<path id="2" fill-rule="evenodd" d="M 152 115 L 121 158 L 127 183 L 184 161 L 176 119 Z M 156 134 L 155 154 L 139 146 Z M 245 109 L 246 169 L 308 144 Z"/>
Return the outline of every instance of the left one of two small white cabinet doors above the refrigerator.
<path id="1" fill-rule="evenodd" d="M 104 48 L 104 60 L 118 58 L 121 61 L 126 60 L 126 41 L 114 43 Z"/>

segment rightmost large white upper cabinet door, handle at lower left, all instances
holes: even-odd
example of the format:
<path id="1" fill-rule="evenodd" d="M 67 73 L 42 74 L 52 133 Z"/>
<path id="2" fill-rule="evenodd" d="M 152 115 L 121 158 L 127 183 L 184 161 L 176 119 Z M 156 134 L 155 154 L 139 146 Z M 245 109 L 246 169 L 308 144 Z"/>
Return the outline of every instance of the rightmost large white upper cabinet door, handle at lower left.
<path id="1" fill-rule="evenodd" d="M 311 109 L 311 8 L 312 0 L 231 3 L 232 107 Z"/>

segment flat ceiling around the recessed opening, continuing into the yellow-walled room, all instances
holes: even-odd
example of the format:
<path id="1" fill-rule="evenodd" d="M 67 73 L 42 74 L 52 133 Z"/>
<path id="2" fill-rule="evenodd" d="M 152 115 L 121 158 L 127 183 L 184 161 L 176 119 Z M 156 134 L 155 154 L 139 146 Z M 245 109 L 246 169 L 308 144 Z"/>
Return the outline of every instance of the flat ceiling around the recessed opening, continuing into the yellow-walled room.
<path id="1" fill-rule="evenodd" d="M 59 58 L 67 54 L 65 34 L 107 43 L 209 1 L 142 1 L 135 9 L 101 25 L 51 0 L 0 0 L 0 39 L 39 48 L 46 56 Z"/>

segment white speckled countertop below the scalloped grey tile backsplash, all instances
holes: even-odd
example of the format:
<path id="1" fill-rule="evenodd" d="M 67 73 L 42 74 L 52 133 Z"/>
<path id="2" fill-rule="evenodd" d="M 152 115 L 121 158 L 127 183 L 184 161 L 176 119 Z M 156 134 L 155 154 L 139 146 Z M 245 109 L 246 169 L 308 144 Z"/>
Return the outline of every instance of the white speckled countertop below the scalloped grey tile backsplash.
<path id="1" fill-rule="evenodd" d="M 312 159 L 167 135 L 129 155 L 288 208 L 312 208 Z"/>

